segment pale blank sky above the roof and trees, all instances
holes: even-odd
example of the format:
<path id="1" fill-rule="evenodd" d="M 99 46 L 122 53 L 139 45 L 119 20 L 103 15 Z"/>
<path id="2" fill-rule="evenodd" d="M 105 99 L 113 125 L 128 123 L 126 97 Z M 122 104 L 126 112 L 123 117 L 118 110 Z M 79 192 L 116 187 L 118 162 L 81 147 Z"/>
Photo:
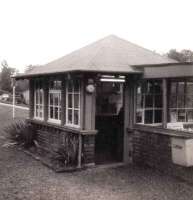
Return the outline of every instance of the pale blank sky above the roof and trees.
<path id="1" fill-rule="evenodd" d="M 193 50 L 192 0 L 0 0 L 0 61 L 22 72 L 114 34 L 166 53 Z"/>

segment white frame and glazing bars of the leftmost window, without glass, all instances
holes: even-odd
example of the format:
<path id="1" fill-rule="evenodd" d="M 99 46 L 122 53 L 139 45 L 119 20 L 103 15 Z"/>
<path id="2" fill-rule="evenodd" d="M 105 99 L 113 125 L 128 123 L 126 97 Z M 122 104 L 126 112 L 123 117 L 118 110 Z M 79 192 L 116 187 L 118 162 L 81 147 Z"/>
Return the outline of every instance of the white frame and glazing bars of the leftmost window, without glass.
<path id="1" fill-rule="evenodd" d="M 43 88 L 37 88 L 36 85 L 38 84 L 39 81 L 42 80 L 35 80 L 34 83 L 34 119 L 38 120 L 44 120 L 44 90 Z M 36 98 L 36 95 L 38 93 L 38 98 Z M 42 95 L 42 104 L 40 104 L 40 95 Z M 38 102 L 36 102 L 36 99 L 38 99 Z M 36 109 L 36 106 L 38 106 L 38 110 Z M 40 117 L 40 106 L 42 106 L 42 117 Z M 36 113 L 38 113 L 36 115 Z"/>

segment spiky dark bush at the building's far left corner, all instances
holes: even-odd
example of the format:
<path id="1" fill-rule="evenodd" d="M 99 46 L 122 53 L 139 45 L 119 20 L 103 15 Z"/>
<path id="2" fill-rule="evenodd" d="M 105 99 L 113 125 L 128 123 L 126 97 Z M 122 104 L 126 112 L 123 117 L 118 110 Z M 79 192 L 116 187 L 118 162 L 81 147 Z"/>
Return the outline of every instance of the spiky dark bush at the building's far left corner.
<path id="1" fill-rule="evenodd" d="M 25 148 L 34 145 L 35 134 L 32 125 L 25 121 L 17 121 L 5 128 L 8 138 Z"/>

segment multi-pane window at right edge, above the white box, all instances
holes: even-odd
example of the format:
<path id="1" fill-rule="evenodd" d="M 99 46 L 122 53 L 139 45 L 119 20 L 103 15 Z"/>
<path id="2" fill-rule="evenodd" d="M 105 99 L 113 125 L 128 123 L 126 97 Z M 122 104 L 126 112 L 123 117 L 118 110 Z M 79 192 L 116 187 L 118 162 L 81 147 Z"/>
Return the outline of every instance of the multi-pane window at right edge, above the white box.
<path id="1" fill-rule="evenodd" d="M 169 92 L 170 122 L 192 122 L 193 81 L 171 81 Z"/>

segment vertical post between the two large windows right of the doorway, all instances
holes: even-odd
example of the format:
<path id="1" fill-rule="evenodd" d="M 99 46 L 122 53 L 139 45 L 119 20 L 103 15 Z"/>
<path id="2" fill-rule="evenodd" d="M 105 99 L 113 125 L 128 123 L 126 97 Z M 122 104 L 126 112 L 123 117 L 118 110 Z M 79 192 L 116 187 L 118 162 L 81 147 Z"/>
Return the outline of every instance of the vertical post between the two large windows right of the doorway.
<path id="1" fill-rule="evenodd" d="M 167 122 L 168 122 L 168 102 L 167 102 L 167 79 L 164 78 L 162 80 L 162 86 L 163 86 L 163 97 L 162 97 L 162 101 L 163 101 L 163 111 L 162 111 L 162 126 L 163 128 L 167 128 Z"/>

